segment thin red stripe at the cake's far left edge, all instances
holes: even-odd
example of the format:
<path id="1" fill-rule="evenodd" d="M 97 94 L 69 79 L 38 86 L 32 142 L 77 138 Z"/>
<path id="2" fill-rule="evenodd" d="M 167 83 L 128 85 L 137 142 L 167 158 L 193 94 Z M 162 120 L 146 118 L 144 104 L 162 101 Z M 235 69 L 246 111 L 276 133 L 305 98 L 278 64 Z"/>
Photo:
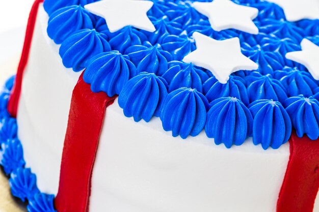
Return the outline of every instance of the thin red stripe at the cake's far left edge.
<path id="1" fill-rule="evenodd" d="M 30 47 L 32 43 L 32 37 L 34 32 L 34 27 L 37 20 L 37 14 L 40 3 L 42 3 L 43 0 L 36 0 L 32 6 L 28 25 L 26 25 L 26 32 L 25 32 L 25 38 L 24 38 L 24 44 L 22 49 L 22 54 L 20 58 L 20 63 L 18 66 L 17 75 L 15 78 L 15 83 L 12 88 L 11 96 L 8 102 L 8 111 L 11 114 L 12 117 L 17 117 L 17 110 L 18 110 L 18 104 L 21 94 L 21 86 L 22 86 L 22 78 L 23 78 L 23 72 L 25 69 L 26 64 L 28 63 L 29 53 L 30 53 Z"/>

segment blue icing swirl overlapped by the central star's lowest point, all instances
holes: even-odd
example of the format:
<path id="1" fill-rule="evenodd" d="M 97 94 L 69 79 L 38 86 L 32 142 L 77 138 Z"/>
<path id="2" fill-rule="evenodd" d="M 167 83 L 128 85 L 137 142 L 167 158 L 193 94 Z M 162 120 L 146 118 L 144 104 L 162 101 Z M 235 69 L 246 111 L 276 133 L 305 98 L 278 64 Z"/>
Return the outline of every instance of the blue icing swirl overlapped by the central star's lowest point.
<path id="1" fill-rule="evenodd" d="M 203 84 L 203 94 L 209 102 L 221 97 L 235 97 L 245 105 L 249 105 L 246 86 L 238 76 L 230 75 L 226 84 L 220 83 L 215 77 L 210 77 Z"/>

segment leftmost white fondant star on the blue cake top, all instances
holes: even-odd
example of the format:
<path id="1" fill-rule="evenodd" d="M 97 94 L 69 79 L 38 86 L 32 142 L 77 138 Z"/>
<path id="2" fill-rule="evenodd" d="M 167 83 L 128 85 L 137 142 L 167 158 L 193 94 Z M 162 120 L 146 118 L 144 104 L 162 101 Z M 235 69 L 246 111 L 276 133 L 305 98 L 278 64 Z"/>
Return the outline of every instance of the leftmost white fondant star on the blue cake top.
<path id="1" fill-rule="evenodd" d="M 103 17 L 111 33 L 129 25 L 154 32 L 155 26 L 146 14 L 153 4 L 141 0 L 102 0 L 84 7 L 89 12 Z"/>

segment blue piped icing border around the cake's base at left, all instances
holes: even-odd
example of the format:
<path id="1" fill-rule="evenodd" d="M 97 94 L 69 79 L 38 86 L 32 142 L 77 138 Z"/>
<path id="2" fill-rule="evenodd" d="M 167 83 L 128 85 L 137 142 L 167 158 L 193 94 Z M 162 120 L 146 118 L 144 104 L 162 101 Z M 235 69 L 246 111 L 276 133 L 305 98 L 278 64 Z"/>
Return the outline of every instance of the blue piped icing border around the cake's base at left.
<path id="1" fill-rule="evenodd" d="M 10 94 L 14 78 L 6 82 L 1 94 Z M 0 103 L 4 98 L 5 95 L 0 95 Z M 7 111 L 7 104 L 4 105 L 5 108 L 0 108 L 0 114 Z M 16 120 L 9 115 L 0 117 L 0 144 L 0 166 L 10 176 L 12 195 L 23 202 L 28 200 L 28 212 L 57 212 L 54 209 L 54 195 L 41 193 L 36 185 L 36 175 L 25 167 L 22 145 L 17 138 Z"/>

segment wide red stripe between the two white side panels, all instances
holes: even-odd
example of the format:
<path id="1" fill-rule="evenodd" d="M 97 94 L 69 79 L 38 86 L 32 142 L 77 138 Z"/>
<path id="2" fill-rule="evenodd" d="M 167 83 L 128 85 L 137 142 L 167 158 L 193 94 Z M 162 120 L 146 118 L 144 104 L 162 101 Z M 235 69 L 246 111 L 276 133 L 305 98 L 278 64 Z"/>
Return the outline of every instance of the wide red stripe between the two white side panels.
<path id="1" fill-rule="evenodd" d="M 65 136 L 60 185 L 55 206 L 59 212 L 86 212 L 89 206 L 92 170 L 105 109 L 116 97 L 93 93 L 79 78 L 72 94 Z"/>

